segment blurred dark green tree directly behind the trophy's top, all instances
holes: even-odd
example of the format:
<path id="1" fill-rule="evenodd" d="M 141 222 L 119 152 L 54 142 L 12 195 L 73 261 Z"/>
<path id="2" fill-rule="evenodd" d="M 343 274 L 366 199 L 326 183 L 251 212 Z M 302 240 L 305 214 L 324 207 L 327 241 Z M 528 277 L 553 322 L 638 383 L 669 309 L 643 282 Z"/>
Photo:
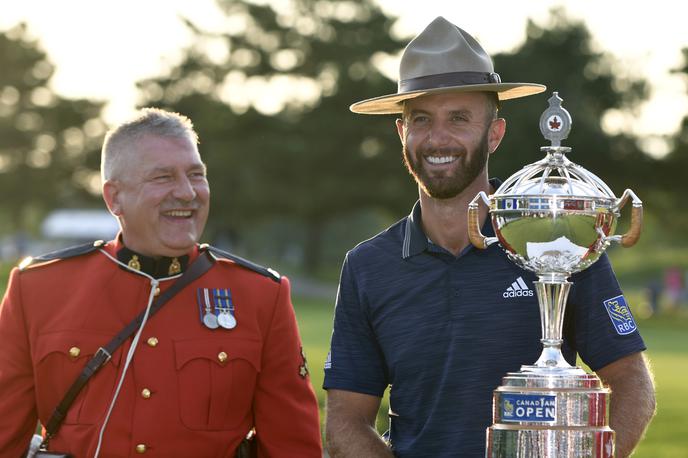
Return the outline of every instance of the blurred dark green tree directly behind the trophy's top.
<path id="1" fill-rule="evenodd" d="M 642 194 L 638 181 L 653 161 L 632 135 L 605 132 L 602 120 L 609 110 L 636 109 L 647 97 L 647 85 L 617 72 L 613 58 L 594 49 L 583 23 L 555 9 L 544 25 L 529 21 L 526 41 L 513 53 L 496 55 L 494 61 L 502 80 L 538 82 L 547 91 L 504 103 L 507 134 L 491 163 L 492 173 L 509 176 L 543 157 L 540 147 L 549 142 L 540 133 L 540 115 L 557 91 L 573 118 L 571 134 L 563 141 L 573 148 L 569 159 L 599 175 L 617 195 L 627 187 Z"/>

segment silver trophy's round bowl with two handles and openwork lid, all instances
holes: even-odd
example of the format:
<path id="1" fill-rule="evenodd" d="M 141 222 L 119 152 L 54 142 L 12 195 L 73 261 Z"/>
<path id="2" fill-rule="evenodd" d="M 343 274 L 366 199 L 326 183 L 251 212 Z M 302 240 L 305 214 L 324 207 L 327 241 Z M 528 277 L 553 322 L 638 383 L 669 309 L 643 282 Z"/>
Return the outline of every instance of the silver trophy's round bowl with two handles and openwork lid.
<path id="1" fill-rule="evenodd" d="M 564 155 L 570 148 L 543 147 L 547 156 L 524 167 L 492 197 L 481 193 L 490 207 L 495 234 L 509 258 L 538 274 L 568 277 L 597 261 L 613 241 L 632 246 L 640 237 L 642 202 L 627 189 L 620 199 L 594 174 Z M 631 229 L 612 235 L 621 208 L 632 199 Z M 469 218 L 479 218 L 475 200 Z M 475 221 L 471 241 L 494 243 L 480 234 Z"/>

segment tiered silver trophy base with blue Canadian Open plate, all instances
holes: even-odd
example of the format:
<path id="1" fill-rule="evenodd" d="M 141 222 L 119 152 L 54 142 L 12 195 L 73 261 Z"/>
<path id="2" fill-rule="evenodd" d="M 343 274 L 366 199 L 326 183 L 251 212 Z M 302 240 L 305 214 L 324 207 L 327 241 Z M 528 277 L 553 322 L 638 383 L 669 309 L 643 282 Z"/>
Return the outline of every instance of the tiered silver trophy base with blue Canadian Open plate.
<path id="1" fill-rule="evenodd" d="M 524 366 L 493 395 L 487 458 L 614 456 L 610 390 L 577 367 Z"/>

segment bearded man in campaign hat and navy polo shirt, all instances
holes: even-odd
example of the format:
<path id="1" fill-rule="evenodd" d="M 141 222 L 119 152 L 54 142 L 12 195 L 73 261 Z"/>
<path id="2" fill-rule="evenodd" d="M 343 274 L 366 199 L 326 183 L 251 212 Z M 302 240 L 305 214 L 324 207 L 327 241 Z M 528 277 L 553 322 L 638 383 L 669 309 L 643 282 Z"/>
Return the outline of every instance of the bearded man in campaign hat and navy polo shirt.
<path id="1" fill-rule="evenodd" d="M 347 253 L 325 363 L 331 457 L 484 457 L 492 390 L 540 354 L 535 275 L 496 245 L 474 248 L 467 208 L 494 193 L 488 157 L 506 121 L 502 100 L 545 90 L 502 83 L 490 57 L 464 30 L 435 19 L 401 58 L 396 94 L 351 110 L 401 113 L 404 162 L 418 184 L 411 214 Z M 482 233 L 494 235 L 487 209 Z M 516 282 L 520 295 L 507 295 Z M 620 335 L 605 299 L 622 294 L 606 256 L 573 276 L 564 355 L 576 355 L 614 395 L 617 456 L 627 456 L 654 412 L 654 389 L 637 331 Z M 390 389 L 390 430 L 375 430 Z"/>

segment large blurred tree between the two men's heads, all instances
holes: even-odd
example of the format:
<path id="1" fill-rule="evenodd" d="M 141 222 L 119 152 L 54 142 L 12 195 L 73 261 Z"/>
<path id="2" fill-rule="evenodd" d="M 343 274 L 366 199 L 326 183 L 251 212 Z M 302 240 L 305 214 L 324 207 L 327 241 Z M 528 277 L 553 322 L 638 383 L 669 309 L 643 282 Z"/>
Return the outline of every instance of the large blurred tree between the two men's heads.
<path id="1" fill-rule="evenodd" d="M 180 111 L 198 126 L 215 235 L 236 243 L 261 219 L 295 219 L 314 271 L 333 219 L 371 207 L 405 212 L 413 199 L 394 120 L 348 111 L 358 98 L 395 91 L 374 63 L 403 41 L 369 0 L 287 3 L 221 1 L 232 30 L 189 24 L 197 44 L 140 88 L 143 105 Z M 221 59 L 208 53 L 218 46 Z"/>

